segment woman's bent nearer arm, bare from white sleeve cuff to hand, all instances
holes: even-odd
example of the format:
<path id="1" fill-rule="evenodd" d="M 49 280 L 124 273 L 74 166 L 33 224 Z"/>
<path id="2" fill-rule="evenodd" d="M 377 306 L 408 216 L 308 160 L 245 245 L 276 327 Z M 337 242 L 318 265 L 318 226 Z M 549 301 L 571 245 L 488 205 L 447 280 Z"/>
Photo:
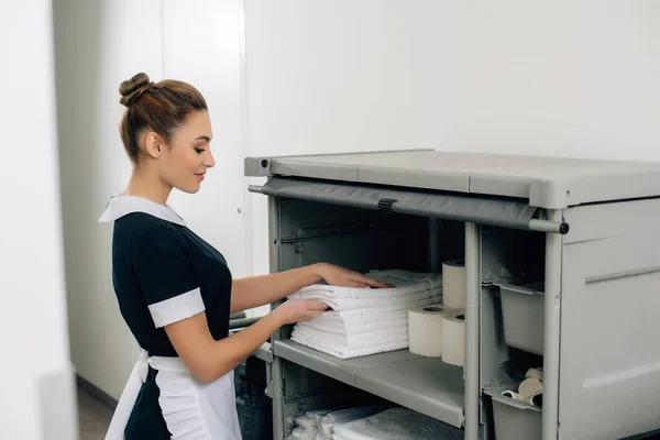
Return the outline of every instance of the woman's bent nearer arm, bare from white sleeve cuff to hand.
<path id="1" fill-rule="evenodd" d="M 170 323 L 165 332 L 190 373 L 210 383 L 230 372 L 266 342 L 282 326 L 316 318 L 327 306 L 320 301 L 288 301 L 240 332 L 213 340 L 206 312 Z"/>

